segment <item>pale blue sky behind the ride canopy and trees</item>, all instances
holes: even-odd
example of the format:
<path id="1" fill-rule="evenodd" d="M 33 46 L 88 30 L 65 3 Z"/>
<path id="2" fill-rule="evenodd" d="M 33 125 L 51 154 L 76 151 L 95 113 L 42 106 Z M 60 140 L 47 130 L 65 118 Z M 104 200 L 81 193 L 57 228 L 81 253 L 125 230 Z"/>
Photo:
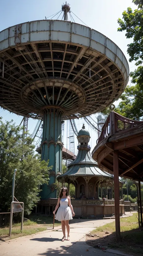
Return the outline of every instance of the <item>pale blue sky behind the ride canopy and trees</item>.
<path id="1" fill-rule="evenodd" d="M 70 1 L 70 2 L 69 2 Z M 110 38 L 114 43 L 116 43 L 119 48 L 125 54 L 127 60 L 129 56 L 127 54 L 127 44 L 131 40 L 127 40 L 125 37 L 125 32 L 117 32 L 119 27 L 117 23 L 118 18 L 122 18 L 122 12 L 131 7 L 133 10 L 136 6 L 132 3 L 132 0 L 69 0 L 71 11 L 75 13 L 87 26 L 103 33 L 108 38 Z M 39 19 L 45 19 L 50 15 L 58 12 L 61 9 L 63 0 L 1 0 L 0 1 L 0 31 L 6 29 L 7 27 Z M 72 14 L 73 15 L 73 14 Z M 81 23 L 81 21 L 73 15 L 75 22 Z M 57 16 L 55 17 L 57 18 Z M 129 63 L 130 71 L 135 69 L 135 63 Z M 130 81 L 129 81 L 130 84 Z M 119 101 L 118 101 L 119 102 Z M 117 103 L 115 103 L 117 104 Z M 0 109 L 0 116 L 3 117 L 3 121 L 11 119 L 19 125 L 22 118 L 16 114 L 10 114 L 8 111 L 2 111 Z M 93 118 L 96 120 L 95 115 Z M 83 120 L 76 121 L 78 130 L 82 127 Z M 30 119 L 28 122 L 28 129 L 32 133 L 37 121 Z M 87 130 L 91 133 L 91 149 L 94 148 L 97 140 L 97 134 L 88 128 L 85 124 Z M 66 122 L 65 122 L 65 135 L 64 144 L 66 147 Z M 75 145 L 77 145 L 77 140 L 75 138 Z M 76 152 L 76 151 L 75 151 Z"/>

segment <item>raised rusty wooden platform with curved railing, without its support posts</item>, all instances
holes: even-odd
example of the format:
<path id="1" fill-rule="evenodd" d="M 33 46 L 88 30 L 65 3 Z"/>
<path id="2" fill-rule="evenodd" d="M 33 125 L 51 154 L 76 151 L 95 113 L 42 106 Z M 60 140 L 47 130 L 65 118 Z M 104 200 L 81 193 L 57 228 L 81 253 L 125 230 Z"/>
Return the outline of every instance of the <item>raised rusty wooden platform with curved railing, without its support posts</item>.
<path id="1" fill-rule="evenodd" d="M 113 152 L 119 155 L 119 176 L 143 181 L 143 121 L 110 112 L 92 157 L 98 167 L 113 172 Z"/>

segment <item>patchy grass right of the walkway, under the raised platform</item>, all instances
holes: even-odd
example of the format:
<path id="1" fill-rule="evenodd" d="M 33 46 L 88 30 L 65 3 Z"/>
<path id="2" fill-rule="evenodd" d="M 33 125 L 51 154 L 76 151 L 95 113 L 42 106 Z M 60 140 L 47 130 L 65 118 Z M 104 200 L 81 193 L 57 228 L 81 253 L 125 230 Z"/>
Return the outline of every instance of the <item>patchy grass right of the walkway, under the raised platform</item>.
<path id="1" fill-rule="evenodd" d="M 133 216 L 131 217 L 120 218 L 120 243 L 116 243 L 114 221 L 94 229 L 91 234 L 96 235 L 95 237 L 87 238 L 87 244 L 91 246 L 101 244 L 110 248 L 118 248 L 118 250 L 126 253 L 134 253 L 134 255 L 137 255 L 136 253 L 139 255 L 143 254 L 143 230 L 138 228 L 138 219 L 136 215 L 137 213 L 133 213 Z M 109 234 L 106 234 L 106 231 L 108 231 Z"/>

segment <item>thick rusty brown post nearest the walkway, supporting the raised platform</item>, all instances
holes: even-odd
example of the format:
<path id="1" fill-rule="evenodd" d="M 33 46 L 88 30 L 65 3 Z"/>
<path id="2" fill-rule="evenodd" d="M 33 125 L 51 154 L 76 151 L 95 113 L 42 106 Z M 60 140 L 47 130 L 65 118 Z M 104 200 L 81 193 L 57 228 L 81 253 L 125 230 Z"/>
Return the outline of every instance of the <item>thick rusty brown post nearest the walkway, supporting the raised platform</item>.
<path id="1" fill-rule="evenodd" d="M 115 197 L 115 226 L 116 226 L 116 242 L 119 243 L 120 236 L 120 206 L 119 206 L 119 162 L 118 151 L 114 151 L 114 197 Z"/>

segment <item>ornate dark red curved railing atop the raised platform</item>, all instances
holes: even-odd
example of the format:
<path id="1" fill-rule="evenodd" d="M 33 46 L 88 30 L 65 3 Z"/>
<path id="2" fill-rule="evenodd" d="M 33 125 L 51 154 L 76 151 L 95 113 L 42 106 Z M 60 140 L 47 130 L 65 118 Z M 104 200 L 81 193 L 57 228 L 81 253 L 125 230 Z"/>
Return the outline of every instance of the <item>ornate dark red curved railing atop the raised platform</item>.
<path id="1" fill-rule="evenodd" d="M 143 125 L 143 121 L 134 121 L 111 111 L 110 115 L 106 119 L 105 124 L 103 125 L 101 135 L 97 139 L 97 144 L 107 137 L 110 137 L 119 132 L 122 133 L 127 129 L 134 129 L 138 125 Z"/>

